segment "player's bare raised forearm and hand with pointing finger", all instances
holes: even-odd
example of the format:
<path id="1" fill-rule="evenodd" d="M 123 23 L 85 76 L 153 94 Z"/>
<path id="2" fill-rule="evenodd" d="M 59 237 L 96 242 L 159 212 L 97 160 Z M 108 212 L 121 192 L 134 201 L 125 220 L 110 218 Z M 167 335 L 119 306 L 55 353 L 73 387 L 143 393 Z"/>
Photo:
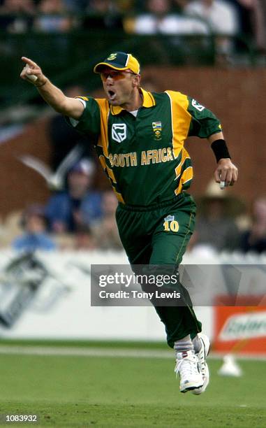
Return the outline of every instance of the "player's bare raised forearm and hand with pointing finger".
<path id="1" fill-rule="evenodd" d="M 33 84 L 40 96 L 49 104 L 55 111 L 63 115 L 79 119 L 84 111 L 84 106 L 81 101 L 75 98 L 66 97 L 66 95 L 54 86 L 50 80 L 43 74 L 36 62 L 29 58 L 22 57 L 25 63 L 24 69 L 20 73 L 20 77 L 27 82 Z M 34 78 L 36 76 L 36 78 Z"/>

